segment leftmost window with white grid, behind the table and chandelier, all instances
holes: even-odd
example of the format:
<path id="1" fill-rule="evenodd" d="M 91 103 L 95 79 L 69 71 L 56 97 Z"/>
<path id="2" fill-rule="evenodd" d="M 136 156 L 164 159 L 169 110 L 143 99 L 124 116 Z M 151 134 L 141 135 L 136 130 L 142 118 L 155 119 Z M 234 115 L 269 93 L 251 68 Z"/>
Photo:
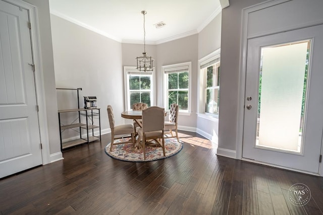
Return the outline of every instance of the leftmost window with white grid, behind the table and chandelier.
<path id="1" fill-rule="evenodd" d="M 143 72 L 135 69 L 134 66 L 125 66 L 125 91 L 126 109 L 132 109 L 132 105 L 137 102 L 153 104 L 153 77 L 151 72 Z"/>

